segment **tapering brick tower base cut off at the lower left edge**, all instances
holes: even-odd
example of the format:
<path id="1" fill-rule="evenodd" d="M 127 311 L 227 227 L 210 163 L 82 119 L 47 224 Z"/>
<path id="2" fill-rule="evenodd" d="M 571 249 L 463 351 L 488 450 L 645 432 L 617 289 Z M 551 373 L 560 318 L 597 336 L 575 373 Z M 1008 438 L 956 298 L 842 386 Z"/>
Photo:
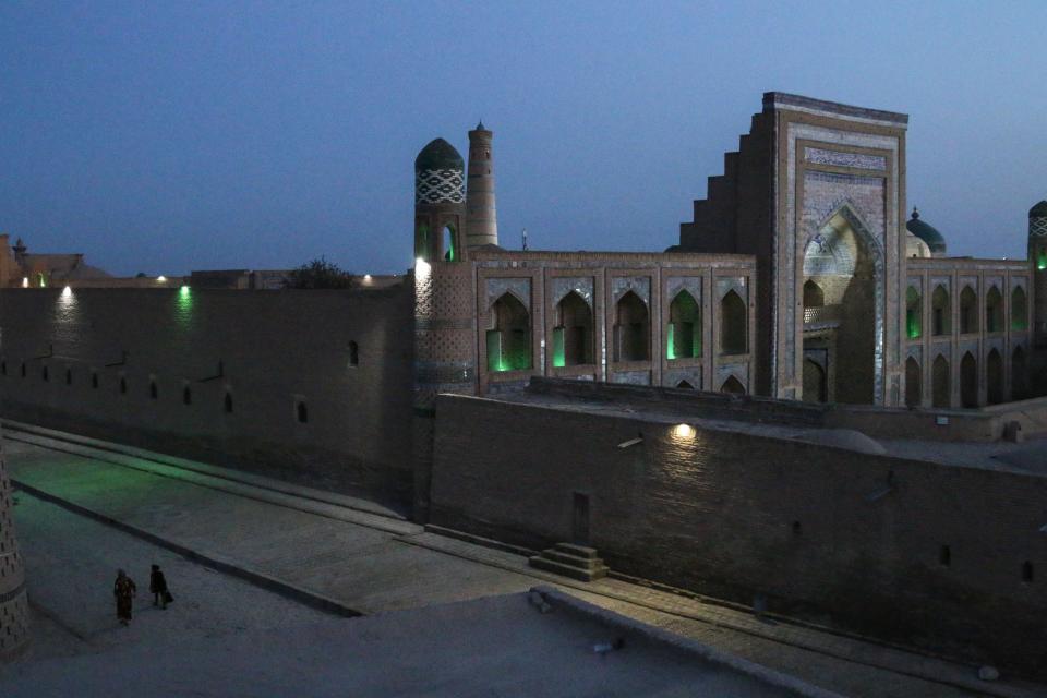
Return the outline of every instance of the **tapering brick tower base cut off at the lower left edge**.
<path id="1" fill-rule="evenodd" d="M 0 662 L 21 652 L 29 640 L 29 602 L 22 555 L 14 538 L 13 506 L 0 430 Z"/>

